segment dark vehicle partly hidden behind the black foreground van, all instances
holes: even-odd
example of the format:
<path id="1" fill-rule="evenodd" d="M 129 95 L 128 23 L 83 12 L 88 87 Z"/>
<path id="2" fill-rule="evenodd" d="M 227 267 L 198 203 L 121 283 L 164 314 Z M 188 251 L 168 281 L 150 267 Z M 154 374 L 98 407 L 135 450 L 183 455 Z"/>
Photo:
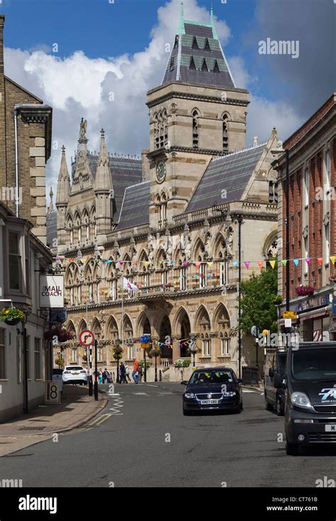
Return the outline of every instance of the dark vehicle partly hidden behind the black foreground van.
<path id="1" fill-rule="evenodd" d="M 268 411 L 276 410 L 278 416 L 284 416 L 286 390 L 274 387 L 274 375 L 284 378 L 287 352 L 283 349 L 267 349 L 264 363 L 265 407 Z"/>

